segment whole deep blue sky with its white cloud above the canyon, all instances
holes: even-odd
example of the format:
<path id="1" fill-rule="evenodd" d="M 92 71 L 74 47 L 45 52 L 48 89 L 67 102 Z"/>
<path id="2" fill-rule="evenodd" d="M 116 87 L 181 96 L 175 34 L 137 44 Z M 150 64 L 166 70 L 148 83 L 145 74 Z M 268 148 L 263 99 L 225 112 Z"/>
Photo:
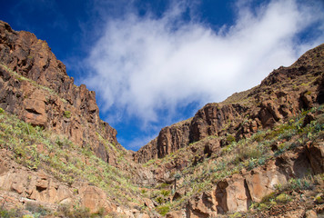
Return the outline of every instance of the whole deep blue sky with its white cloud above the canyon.
<path id="1" fill-rule="evenodd" d="M 0 0 L 46 40 L 100 116 L 137 150 L 166 125 L 251 88 L 324 43 L 321 0 Z"/>

